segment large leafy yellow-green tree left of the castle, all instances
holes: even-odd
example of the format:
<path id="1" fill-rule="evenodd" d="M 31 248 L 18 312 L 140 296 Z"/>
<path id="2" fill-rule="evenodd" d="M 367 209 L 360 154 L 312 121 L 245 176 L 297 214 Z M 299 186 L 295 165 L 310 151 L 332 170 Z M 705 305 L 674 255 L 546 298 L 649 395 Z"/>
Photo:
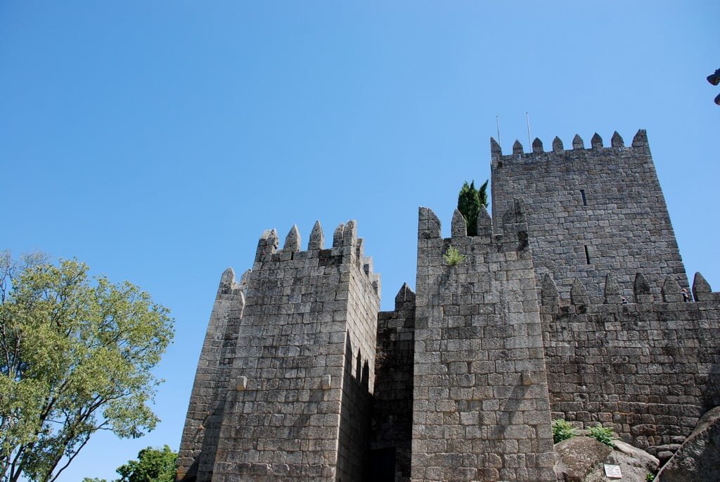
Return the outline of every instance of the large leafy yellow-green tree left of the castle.
<path id="1" fill-rule="evenodd" d="M 54 481 L 91 434 L 140 437 L 158 418 L 150 370 L 168 310 L 76 260 L 0 252 L 0 481 Z"/>

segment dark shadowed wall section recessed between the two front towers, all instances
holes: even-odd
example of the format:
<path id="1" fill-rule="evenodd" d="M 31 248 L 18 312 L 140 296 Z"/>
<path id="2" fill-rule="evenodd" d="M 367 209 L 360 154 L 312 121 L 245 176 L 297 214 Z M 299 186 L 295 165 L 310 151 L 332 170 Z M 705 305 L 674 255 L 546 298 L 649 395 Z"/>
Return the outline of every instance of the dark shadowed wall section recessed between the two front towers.
<path id="1" fill-rule="evenodd" d="M 415 293 L 405 284 L 395 296 L 395 311 L 377 316 L 372 481 L 410 482 L 414 349 Z"/>

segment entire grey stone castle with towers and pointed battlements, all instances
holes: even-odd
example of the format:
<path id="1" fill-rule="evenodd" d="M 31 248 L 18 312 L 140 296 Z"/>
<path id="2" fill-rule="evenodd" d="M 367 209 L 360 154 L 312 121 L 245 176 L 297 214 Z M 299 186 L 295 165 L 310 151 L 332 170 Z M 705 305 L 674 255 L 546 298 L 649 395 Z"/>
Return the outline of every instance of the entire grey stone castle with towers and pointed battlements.
<path id="1" fill-rule="evenodd" d="M 177 480 L 555 481 L 552 419 L 666 460 L 720 405 L 720 293 L 687 293 L 645 131 L 490 152 L 492 218 L 420 207 L 395 311 L 352 220 L 222 274 Z"/>

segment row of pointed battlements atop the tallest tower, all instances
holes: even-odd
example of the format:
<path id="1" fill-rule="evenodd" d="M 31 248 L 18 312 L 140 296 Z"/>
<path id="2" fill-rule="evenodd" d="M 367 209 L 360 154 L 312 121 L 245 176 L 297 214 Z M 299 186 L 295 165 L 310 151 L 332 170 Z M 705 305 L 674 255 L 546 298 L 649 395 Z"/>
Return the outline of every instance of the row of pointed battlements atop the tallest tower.
<path id="1" fill-rule="evenodd" d="M 562 140 L 555 137 L 552 140 L 552 149 L 545 151 L 543 143 L 539 138 L 535 138 L 532 142 L 531 150 L 526 152 L 520 140 L 513 143 L 512 153 L 503 154 L 503 148 L 500 147 L 495 138 L 490 138 L 490 159 L 493 168 L 502 168 L 507 164 L 518 163 L 535 163 L 547 161 L 559 161 L 562 159 L 572 160 L 593 160 L 595 158 L 606 158 L 608 156 L 634 156 L 649 155 L 649 146 L 647 143 L 647 133 L 644 129 L 640 129 L 634 135 L 630 146 L 625 146 L 625 141 L 615 131 L 610 140 L 610 146 L 603 146 L 603 138 L 595 133 L 590 139 L 590 148 L 585 148 L 585 141 L 580 135 L 572 138 L 572 149 L 565 149 Z"/>

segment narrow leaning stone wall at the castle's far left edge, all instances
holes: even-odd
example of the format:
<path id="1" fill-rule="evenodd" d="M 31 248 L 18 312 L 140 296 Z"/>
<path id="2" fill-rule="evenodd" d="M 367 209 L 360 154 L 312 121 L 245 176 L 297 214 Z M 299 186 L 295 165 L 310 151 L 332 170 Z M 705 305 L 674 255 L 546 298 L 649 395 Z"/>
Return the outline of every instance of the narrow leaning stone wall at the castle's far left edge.
<path id="1" fill-rule="evenodd" d="M 229 353 L 234 349 L 234 336 L 244 305 L 242 286 L 235 282 L 233 269 L 228 268 L 222 273 L 217 288 L 195 372 L 180 443 L 178 481 L 210 480 L 230 377 Z"/>

